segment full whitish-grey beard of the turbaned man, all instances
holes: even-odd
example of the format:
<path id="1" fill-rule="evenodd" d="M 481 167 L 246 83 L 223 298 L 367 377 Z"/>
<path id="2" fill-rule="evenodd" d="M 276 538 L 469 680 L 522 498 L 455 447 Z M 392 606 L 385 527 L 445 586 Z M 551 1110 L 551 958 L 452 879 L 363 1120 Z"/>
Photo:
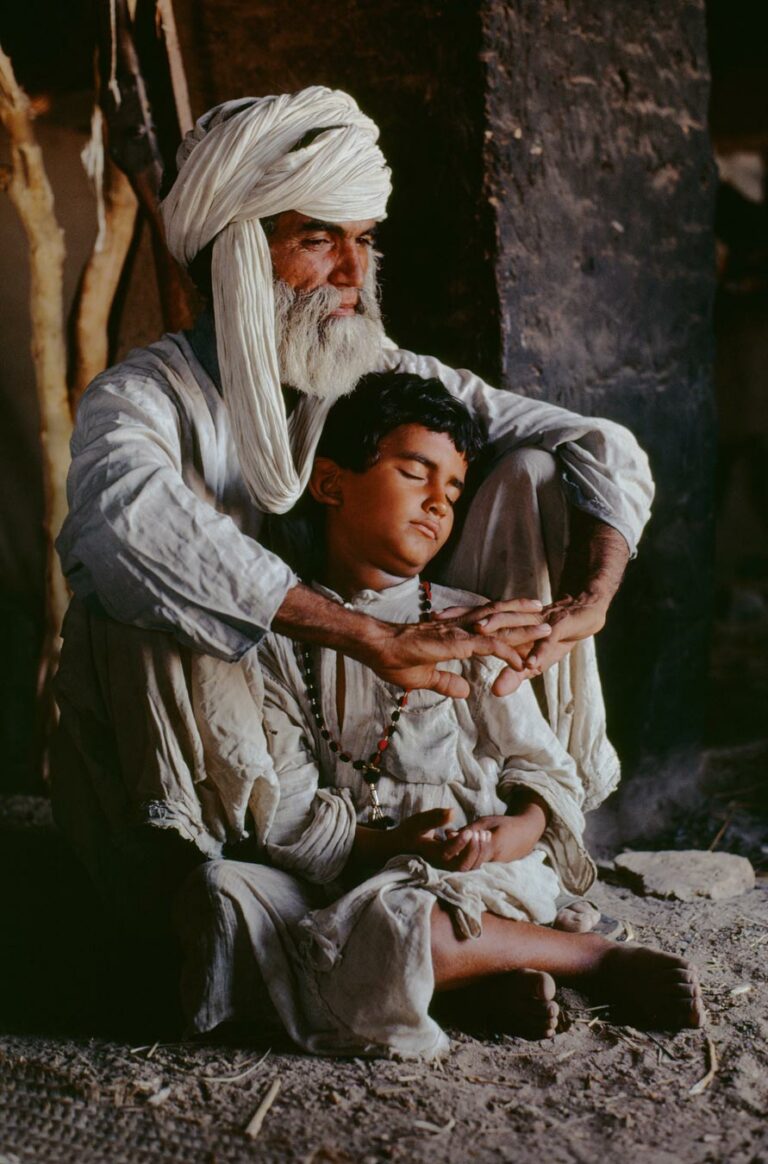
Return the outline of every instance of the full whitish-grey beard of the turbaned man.
<path id="1" fill-rule="evenodd" d="M 332 286 L 301 292 L 275 281 L 275 343 L 283 384 L 335 400 L 378 367 L 385 333 L 372 261 L 354 315 L 330 315 L 341 299 Z"/>

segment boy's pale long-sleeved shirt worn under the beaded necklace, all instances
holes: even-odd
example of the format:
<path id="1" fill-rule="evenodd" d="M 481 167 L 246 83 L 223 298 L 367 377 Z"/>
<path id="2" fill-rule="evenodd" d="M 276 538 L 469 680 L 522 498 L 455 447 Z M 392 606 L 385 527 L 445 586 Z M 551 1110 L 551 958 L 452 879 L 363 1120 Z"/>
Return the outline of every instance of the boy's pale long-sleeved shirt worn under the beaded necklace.
<path id="1" fill-rule="evenodd" d="M 417 622 L 419 580 L 408 579 L 382 591 L 363 590 L 346 605 L 384 622 Z M 325 587 L 322 594 L 341 598 Z M 476 596 L 433 587 L 435 610 Z M 350 764 L 334 755 L 313 717 L 298 658 L 287 638 L 270 634 L 259 650 L 264 674 L 264 728 L 278 778 L 279 797 L 255 799 L 257 831 L 275 864 L 308 880 L 339 878 L 347 864 L 355 828 L 365 823 L 368 786 Z M 336 712 L 334 651 L 312 650 L 315 684 L 330 736 L 354 758 L 364 759 L 390 723 L 399 689 L 374 672 L 344 659 L 344 714 Z M 491 687 L 503 663 L 471 659 L 445 665 L 470 683 L 468 700 L 433 691 L 412 691 L 384 754 L 377 790 L 384 811 L 400 821 L 431 808 L 451 808 L 451 826 L 506 811 L 519 787 L 548 804 L 549 826 L 542 849 L 564 888 L 583 893 L 595 866 L 583 844 L 584 785 L 576 764 L 542 716 L 529 683 L 505 697 Z M 493 870 L 492 894 L 504 893 L 505 865 Z M 489 886 L 490 888 L 490 886 Z M 490 908 L 491 902 L 486 903 Z"/>

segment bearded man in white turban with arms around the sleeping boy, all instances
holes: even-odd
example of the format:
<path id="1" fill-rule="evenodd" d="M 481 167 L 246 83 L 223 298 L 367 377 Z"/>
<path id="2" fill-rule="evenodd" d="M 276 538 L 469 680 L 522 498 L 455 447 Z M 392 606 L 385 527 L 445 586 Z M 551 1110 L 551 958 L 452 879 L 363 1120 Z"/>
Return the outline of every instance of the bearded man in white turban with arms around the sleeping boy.
<path id="1" fill-rule="evenodd" d="M 454 697 L 465 682 L 445 660 L 498 655 L 497 694 L 543 672 L 586 804 L 618 779 L 591 636 L 647 518 L 646 460 L 610 421 L 497 391 L 385 336 L 372 246 L 390 177 L 377 136 L 351 98 L 325 88 L 205 114 L 163 214 L 171 251 L 209 281 L 212 315 L 133 352 L 79 409 L 58 542 L 74 598 L 54 799 L 123 903 L 172 889 L 195 860 L 246 851 L 269 767 L 254 650 L 269 629 Z M 374 369 L 436 376 L 488 423 L 496 461 L 446 581 L 510 601 L 381 623 L 303 585 L 269 548 L 269 516 L 301 495 L 333 398 Z"/>

